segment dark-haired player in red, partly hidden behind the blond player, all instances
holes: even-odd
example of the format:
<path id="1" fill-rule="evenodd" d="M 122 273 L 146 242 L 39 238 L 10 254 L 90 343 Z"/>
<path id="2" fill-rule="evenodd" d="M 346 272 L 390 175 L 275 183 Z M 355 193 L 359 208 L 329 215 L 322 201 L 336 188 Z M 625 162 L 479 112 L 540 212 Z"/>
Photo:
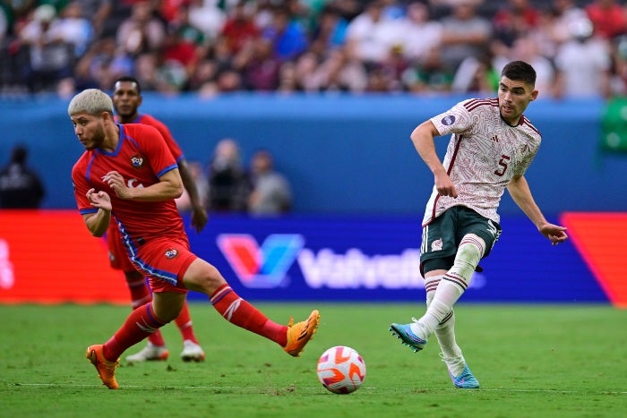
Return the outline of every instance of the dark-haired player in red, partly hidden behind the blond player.
<path id="1" fill-rule="evenodd" d="M 201 231 L 207 224 L 207 210 L 199 197 L 196 184 L 187 168 L 187 162 L 183 151 L 176 143 L 172 133 L 158 119 L 151 115 L 141 115 L 139 107 L 142 105 L 142 88 L 139 81 L 133 77 L 120 77 L 114 83 L 113 106 L 116 111 L 116 120 L 120 124 L 149 124 L 157 128 L 161 136 L 166 141 L 167 149 L 176 160 L 178 171 L 183 180 L 185 190 L 190 196 L 192 204 L 192 226 L 196 231 Z M 133 309 L 139 308 L 143 304 L 152 300 L 150 288 L 146 283 L 142 273 L 133 267 L 133 263 L 128 260 L 126 251 L 115 222 L 110 222 L 107 230 L 107 246 L 111 267 L 120 269 L 125 274 L 126 285 L 131 293 L 131 303 Z M 204 351 L 194 335 L 192 317 L 187 303 L 184 303 L 181 314 L 175 320 L 176 326 L 183 337 L 183 351 L 181 358 L 185 362 L 202 362 L 205 358 Z M 168 351 L 166 343 L 159 330 L 148 337 L 148 344 L 138 353 L 128 355 L 127 363 L 139 363 L 150 360 L 167 360 Z"/>

